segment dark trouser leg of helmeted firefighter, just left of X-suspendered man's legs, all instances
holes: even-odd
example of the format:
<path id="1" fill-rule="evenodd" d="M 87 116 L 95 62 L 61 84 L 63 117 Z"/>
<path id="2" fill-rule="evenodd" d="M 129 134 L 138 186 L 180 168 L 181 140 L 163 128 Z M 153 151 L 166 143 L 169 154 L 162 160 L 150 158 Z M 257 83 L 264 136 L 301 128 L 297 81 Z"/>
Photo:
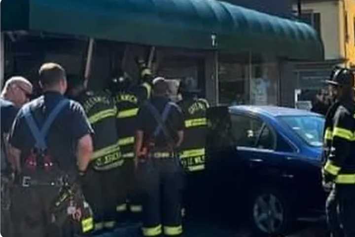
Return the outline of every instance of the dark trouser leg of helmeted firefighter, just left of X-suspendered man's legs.
<path id="1" fill-rule="evenodd" d="M 126 158 L 122 166 L 124 186 L 127 194 L 127 209 L 132 220 L 139 221 L 142 214 L 142 197 L 137 186 L 135 164 L 133 158 Z M 120 203 L 118 203 L 119 205 Z"/>

